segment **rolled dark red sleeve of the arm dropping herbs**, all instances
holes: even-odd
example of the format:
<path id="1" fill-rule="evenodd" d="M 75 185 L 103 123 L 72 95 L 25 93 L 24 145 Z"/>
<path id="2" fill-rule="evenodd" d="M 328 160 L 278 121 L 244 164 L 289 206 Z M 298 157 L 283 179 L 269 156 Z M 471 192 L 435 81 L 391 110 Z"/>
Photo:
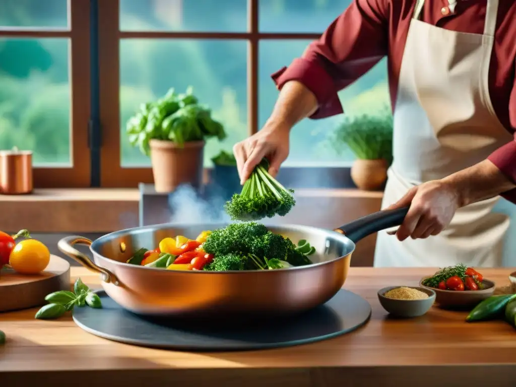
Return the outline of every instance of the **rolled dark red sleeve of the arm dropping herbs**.
<path id="1" fill-rule="evenodd" d="M 301 58 L 272 74 L 278 89 L 297 80 L 312 91 L 318 103 L 312 119 L 342 113 L 337 92 L 388 53 L 388 7 L 387 0 L 353 0 Z"/>

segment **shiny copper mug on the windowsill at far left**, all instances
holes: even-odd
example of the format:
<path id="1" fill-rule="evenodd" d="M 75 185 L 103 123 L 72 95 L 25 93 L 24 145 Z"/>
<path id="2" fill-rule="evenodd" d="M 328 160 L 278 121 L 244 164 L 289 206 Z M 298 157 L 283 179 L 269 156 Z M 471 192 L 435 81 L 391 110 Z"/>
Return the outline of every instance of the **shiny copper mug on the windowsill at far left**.
<path id="1" fill-rule="evenodd" d="M 0 193 L 21 195 L 33 190 L 32 152 L 0 151 Z"/>

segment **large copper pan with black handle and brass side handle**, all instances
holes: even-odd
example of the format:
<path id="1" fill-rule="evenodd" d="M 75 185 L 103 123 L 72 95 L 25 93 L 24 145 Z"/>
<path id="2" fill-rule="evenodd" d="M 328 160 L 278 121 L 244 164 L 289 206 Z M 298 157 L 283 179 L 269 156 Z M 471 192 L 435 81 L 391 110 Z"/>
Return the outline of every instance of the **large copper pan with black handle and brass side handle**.
<path id="1" fill-rule="evenodd" d="M 225 224 L 158 224 L 117 231 L 94 242 L 69 236 L 63 253 L 102 275 L 102 287 L 122 308 L 142 315 L 217 317 L 270 316 L 303 312 L 324 304 L 344 285 L 355 243 L 400 225 L 408 207 L 380 211 L 331 230 L 304 225 L 268 227 L 316 248 L 312 265 L 276 270 L 174 271 L 125 263 L 135 251 L 153 249 L 165 237 L 193 237 Z M 88 245 L 91 261 L 74 245 Z"/>

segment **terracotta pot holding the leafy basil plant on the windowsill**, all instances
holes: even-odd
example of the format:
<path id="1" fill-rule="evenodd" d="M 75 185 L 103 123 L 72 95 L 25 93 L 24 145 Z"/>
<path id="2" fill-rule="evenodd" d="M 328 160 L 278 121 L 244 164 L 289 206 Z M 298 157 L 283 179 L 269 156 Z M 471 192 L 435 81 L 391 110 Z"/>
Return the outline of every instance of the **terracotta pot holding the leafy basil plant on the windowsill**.
<path id="1" fill-rule="evenodd" d="M 204 141 L 186 142 L 180 148 L 172 141 L 151 140 L 150 147 L 156 192 L 171 192 L 181 184 L 201 187 Z"/>

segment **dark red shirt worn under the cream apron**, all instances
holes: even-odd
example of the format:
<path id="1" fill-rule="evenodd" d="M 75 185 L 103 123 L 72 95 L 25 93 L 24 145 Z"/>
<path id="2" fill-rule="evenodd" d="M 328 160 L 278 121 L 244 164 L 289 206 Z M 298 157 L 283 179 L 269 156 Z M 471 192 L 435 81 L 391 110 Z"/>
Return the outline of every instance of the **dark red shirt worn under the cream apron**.
<path id="1" fill-rule="evenodd" d="M 278 88 L 298 80 L 316 96 L 319 109 L 311 118 L 343 112 L 337 92 L 388 57 L 391 106 L 398 90 L 401 59 L 415 0 L 353 0 L 310 44 L 302 58 L 272 75 Z M 421 21 L 449 30 L 482 34 L 487 0 L 458 0 L 454 13 L 443 15 L 447 0 L 426 0 Z M 516 1 L 499 0 L 495 43 L 489 70 L 489 92 L 498 119 L 514 133 L 514 141 L 488 158 L 516 182 Z M 503 195 L 516 203 L 516 189 Z"/>

